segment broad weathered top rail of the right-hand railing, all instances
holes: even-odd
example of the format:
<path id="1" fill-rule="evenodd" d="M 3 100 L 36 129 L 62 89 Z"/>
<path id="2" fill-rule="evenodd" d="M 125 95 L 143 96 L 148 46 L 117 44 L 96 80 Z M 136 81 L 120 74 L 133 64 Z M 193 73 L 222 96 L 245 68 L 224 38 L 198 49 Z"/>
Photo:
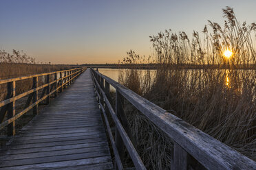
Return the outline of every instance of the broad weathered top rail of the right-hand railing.
<path id="1" fill-rule="evenodd" d="M 94 71 L 118 89 L 132 105 L 207 169 L 255 169 L 256 162 L 140 97 L 125 86 Z"/>

